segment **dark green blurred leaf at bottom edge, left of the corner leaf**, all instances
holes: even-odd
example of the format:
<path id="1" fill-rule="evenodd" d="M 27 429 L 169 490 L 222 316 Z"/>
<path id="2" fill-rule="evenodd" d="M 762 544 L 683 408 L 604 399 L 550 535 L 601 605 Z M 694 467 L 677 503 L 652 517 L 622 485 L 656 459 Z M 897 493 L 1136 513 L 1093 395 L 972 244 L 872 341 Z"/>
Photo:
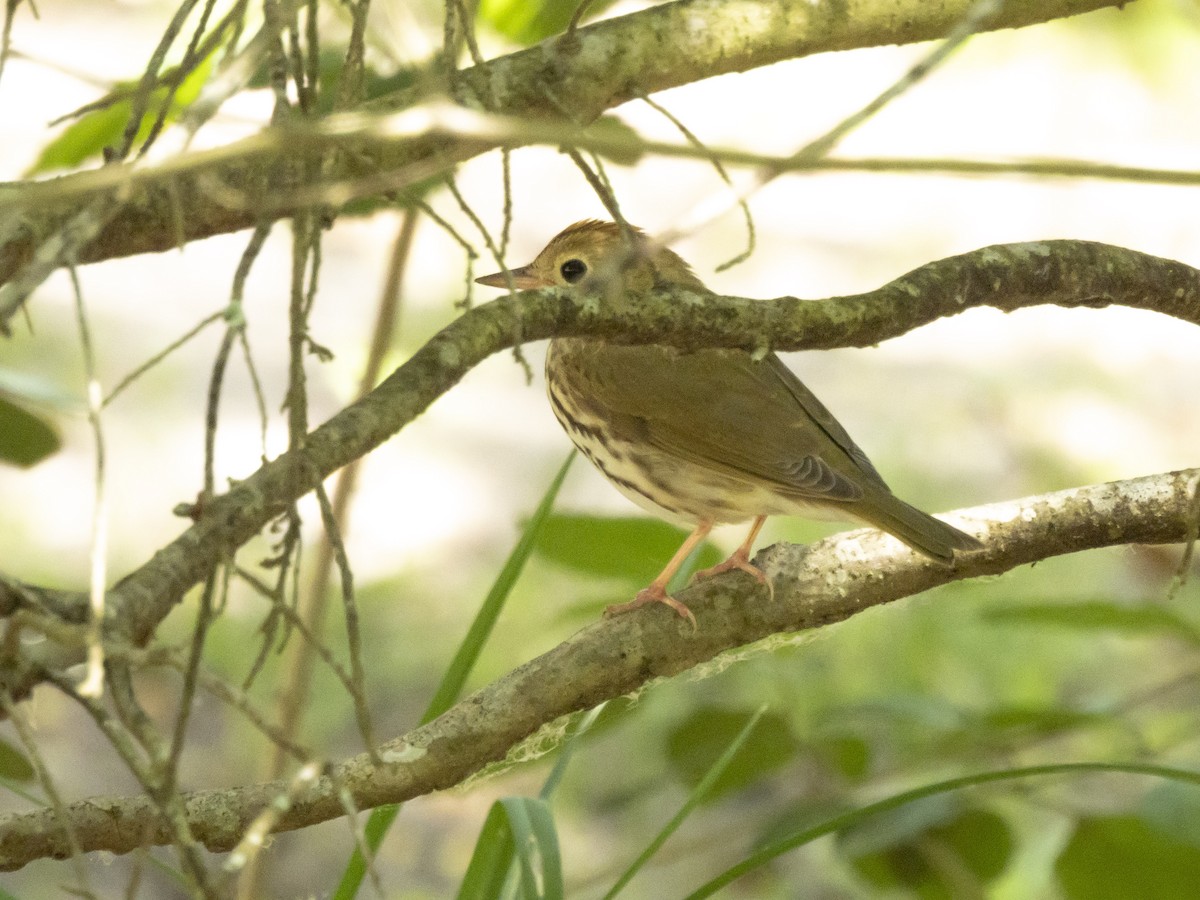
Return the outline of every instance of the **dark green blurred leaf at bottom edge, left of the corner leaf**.
<path id="1" fill-rule="evenodd" d="M 854 869 L 881 893 L 902 888 L 926 900 L 954 900 L 970 876 L 983 888 L 1013 854 L 1013 834 L 994 812 L 971 809 L 912 840 L 854 859 Z M 985 890 L 973 892 L 979 896 Z"/>

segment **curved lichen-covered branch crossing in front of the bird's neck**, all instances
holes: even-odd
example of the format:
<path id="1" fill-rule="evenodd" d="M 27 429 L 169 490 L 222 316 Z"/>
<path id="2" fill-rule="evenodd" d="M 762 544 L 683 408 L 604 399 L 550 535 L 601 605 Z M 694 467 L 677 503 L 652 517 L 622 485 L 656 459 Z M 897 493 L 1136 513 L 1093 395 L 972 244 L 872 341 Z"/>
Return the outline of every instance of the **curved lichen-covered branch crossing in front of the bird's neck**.
<path id="1" fill-rule="evenodd" d="M 1162 312 L 1200 324 L 1200 271 L 1182 263 L 1086 241 L 1012 244 L 950 257 L 865 294 L 774 301 L 680 289 L 618 304 L 565 290 L 524 292 L 452 322 L 378 388 L 284 454 L 203 505 L 199 520 L 108 595 L 108 632 L 142 644 L 194 584 L 325 478 L 396 434 L 472 367 L 520 341 L 594 335 L 683 348 L 781 350 L 865 347 L 977 306 L 1013 311 L 1040 304 Z M 36 595 L 0 590 L 6 608 Z M 55 612 L 84 622 L 86 601 L 55 596 Z M 37 683 L 23 658 L 2 661 L 4 684 L 20 697 Z"/>

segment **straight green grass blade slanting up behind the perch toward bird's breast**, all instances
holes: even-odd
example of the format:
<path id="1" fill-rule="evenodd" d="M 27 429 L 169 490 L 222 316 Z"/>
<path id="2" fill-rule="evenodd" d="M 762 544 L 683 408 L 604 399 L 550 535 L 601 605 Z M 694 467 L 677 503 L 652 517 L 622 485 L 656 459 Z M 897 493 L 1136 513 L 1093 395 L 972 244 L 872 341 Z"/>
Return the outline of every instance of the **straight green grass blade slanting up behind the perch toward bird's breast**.
<path id="1" fill-rule="evenodd" d="M 484 604 L 479 607 L 474 622 L 470 623 L 470 628 L 467 630 L 467 636 L 463 637 L 458 650 L 450 661 L 450 666 L 442 676 L 442 682 L 438 684 L 438 689 L 434 691 L 433 698 L 425 710 L 425 715 L 421 716 L 421 725 L 442 715 L 442 713 L 454 706 L 460 694 L 462 694 L 462 686 L 467 683 L 467 677 L 479 660 L 484 644 L 487 643 L 496 620 L 499 618 L 500 610 L 504 608 L 504 604 L 509 599 L 512 586 L 516 584 L 521 570 L 533 552 L 538 532 L 541 529 L 547 516 L 550 516 L 550 511 L 554 506 L 554 498 L 558 497 L 558 490 L 563 486 L 563 480 L 566 478 L 566 472 L 574 460 L 575 451 L 572 450 L 563 462 L 558 474 L 554 475 L 553 481 L 550 482 L 546 493 L 541 498 L 541 503 L 538 504 L 538 509 L 534 510 L 533 517 L 526 524 L 520 540 L 517 540 L 516 546 L 505 560 L 499 575 L 496 576 L 492 589 L 487 592 Z M 388 829 L 397 815 L 400 815 L 398 803 L 377 806 L 371 811 L 362 839 L 372 853 L 379 850 L 384 835 L 388 834 Z M 346 864 L 346 871 L 342 872 L 342 880 L 334 894 L 334 900 L 354 900 L 354 896 L 359 892 L 359 886 L 362 883 L 362 877 L 366 875 L 366 859 L 362 856 L 362 851 L 355 848 L 350 854 L 349 862 Z"/>

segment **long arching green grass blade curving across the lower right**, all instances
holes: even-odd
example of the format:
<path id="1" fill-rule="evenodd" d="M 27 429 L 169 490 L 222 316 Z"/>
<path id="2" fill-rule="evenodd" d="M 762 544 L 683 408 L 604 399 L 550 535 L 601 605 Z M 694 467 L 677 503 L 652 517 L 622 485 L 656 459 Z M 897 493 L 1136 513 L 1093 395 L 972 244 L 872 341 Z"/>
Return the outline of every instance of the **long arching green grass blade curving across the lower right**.
<path id="1" fill-rule="evenodd" d="M 1200 787 L 1200 772 L 1189 772 L 1188 769 L 1175 769 L 1165 766 L 1152 766 L 1148 763 L 1136 762 L 1064 762 L 1050 766 L 1028 766 L 1018 769 L 1003 769 L 998 772 L 980 772 L 974 775 L 962 775 L 960 778 L 952 778 L 944 781 L 935 781 L 929 785 L 914 787 L 911 791 L 902 791 L 893 794 L 892 797 L 886 797 L 876 803 L 869 803 L 859 809 L 842 812 L 841 815 L 828 818 L 820 824 L 812 826 L 811 828 L 804 828 L 794 832 L 793 834 L 751 853 L 737 865 L 726 869 L 712 881 L 702 884 L 700 888 L 688 894 L 685 900 L 701 900 L 701 898 L 712 896 L 730 882 L 740 878 L 743 875 L 754 871 L 790 850 L 796 850 L 797 847 L 809 844 L 817 838 L 823 838 L 827 834 L 840 832 L 842 828 L 859 824 L 880 812 L 888 812 L 904 806 L 907 803 L 924 799 L 925 797 L 934 797 L 940 793 L 950 793 L 964 787 L 986 785 L 995 781 L 1014 781 L 1022 778 L 1064 775 L 1081 772 L 1123 772 L 1133 775 L 1154 775 L 1157 778 L 1183 781 Z"/>

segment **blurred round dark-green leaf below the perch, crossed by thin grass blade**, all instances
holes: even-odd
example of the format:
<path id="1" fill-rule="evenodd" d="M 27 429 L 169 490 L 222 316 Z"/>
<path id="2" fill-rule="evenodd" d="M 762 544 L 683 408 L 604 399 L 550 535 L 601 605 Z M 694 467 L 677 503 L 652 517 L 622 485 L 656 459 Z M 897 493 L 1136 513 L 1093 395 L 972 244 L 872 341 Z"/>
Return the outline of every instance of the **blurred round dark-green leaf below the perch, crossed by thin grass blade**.
<path id="1" fill-rule="evenodd" d="M 800 749 L 781 715 L 701 707 L 667 736 L 667 760 L 684 784 L 697 785 L 746 724 L 756 719 L 754 740 L 725 766 L 708 799 L 739 791 L 791 762 Z"/>

